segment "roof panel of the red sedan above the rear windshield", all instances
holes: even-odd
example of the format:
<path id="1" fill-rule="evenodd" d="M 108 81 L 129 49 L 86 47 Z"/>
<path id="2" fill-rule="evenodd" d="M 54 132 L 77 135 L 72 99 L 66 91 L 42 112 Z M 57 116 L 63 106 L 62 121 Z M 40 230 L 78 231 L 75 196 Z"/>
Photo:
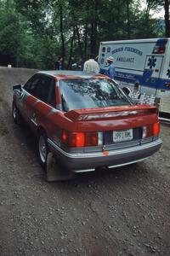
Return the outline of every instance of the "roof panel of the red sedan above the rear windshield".
<path id="1" fill-rule="evenodd" d="M 39 71 L 38 73 L 43 73 L 46 75 L 53 76 L 55 78 L 67 79 L 69 78 L 81 78 L 81 79 L 91 79 L 91 78 L 106 78 L 105 75 L 100 73 L 90 73 L 84 71 L 72 71 L 72 70 L 48 70 L 48 71 Z"/>

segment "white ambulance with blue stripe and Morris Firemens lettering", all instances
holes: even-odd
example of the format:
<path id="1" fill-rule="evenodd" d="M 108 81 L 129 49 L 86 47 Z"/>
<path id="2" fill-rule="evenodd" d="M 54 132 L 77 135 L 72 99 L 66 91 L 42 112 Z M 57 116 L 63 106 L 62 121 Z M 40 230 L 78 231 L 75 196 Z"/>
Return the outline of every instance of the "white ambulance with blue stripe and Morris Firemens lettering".
<path id="1" fill-rule="evenodd" d="M 138 90 L 142 103 L 161 98 L 161 111 L 170 113 L 170 38 L 101 42 L 101 73 L 108 69 L 109 56 L 114 57 L 115 79 L 122 87 Z"/>

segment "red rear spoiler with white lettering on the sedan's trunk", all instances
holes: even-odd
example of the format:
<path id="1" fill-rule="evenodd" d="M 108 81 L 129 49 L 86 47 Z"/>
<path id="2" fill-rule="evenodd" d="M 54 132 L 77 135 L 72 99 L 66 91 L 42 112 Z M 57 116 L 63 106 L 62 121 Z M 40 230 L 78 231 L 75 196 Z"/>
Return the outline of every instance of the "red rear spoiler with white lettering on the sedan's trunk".
<path id="1" fill-rule="evenodd" d="M 90 121 L 96 119 L 113 119 L 117 117 L 156 113 L 158 109 L 150 105 L 133 105 L 110 108 L 83 108 L 65 113 L 65 117 L 72 121 Z"/>

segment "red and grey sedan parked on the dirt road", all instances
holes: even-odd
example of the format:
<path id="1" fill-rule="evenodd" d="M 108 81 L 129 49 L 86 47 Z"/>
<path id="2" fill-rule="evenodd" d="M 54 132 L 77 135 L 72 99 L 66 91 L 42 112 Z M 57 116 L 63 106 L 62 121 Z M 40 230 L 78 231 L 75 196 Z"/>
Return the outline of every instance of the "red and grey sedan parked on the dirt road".
<path id="1" fill-rule="evenodd" d="M 138 162 L 162 143 L 157 108 L 135 105 L 101 74 L 38 72 L 24 86 L 14 85 L 13 117 L 36 134 L 42 166 L 52 152 L 70 172 Z"/>

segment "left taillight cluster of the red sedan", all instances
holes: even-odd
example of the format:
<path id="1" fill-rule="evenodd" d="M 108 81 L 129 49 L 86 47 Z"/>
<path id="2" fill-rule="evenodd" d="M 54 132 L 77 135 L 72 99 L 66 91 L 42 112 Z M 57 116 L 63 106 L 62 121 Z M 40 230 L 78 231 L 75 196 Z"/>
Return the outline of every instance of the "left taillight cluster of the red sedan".
<path id="1" fill-rule="evenodd" d="M 103 143 L 102 132 L 70 132 L 62 131 L 61 139 L 68 147 L 90 147 Z"/>

